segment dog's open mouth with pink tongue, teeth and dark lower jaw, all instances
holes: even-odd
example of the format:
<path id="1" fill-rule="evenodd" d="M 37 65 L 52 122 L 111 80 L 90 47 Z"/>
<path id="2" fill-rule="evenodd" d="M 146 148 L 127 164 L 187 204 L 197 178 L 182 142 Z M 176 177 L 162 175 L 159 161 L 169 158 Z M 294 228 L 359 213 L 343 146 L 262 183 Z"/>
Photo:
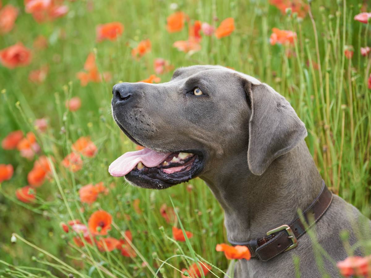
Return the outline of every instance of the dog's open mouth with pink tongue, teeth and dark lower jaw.
<path id="1" fill-rule="evenodd" d="M 127 152 L 108 168 L 115 177 L 122 177 L 144 188 L 164 189 L 194 178 L 202 170 L 201 153 L 156 152 L 148 148 Z"/>

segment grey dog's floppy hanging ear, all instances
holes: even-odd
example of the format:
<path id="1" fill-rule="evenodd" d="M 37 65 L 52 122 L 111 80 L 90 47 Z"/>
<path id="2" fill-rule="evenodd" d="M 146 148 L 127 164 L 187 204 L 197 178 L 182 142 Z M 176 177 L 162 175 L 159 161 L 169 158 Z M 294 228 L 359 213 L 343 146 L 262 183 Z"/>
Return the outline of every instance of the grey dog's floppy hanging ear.
<path id="1" fill-rule="evenodd" d="M 244 89 L 251 108 L 247 162 L 254 175 L 262 175 L 273 160 L 298 145 L 307 132 L 290 103 L 272 87 L 246 81 Z"/>

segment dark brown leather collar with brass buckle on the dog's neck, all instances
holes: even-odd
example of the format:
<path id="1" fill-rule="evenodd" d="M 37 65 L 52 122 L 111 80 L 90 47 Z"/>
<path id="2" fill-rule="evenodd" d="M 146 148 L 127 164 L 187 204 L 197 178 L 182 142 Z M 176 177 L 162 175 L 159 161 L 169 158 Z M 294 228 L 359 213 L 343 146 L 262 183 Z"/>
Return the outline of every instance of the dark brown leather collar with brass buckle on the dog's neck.
<path id="1" fill-rule="evenodd" d="M 289 225 L 282 225 L 267 232 L 263 238 L 256 238 L 245 242 L 228 240 L 232 245 L 246 245 L 252 258 L 258 258 L 266 262 L 282 252 L 289 251 L 298 245 L 298 238 L 311 228 L 324 213 L 332 202 L 332 192 L 322 181 L 322 189 L 316 199 L 303 211 L 302 215 L 292 221 Z M 300 218 L 305 219 L 306 227 Z M 313 221 L 314 219 L 314 221 Z"/>

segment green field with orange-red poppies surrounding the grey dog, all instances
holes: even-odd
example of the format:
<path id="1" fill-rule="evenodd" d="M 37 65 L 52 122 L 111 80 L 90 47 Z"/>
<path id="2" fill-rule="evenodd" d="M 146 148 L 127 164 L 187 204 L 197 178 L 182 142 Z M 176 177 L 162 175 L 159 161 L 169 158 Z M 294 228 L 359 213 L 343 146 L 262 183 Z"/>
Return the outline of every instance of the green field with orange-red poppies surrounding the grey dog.
<path id="1" fill-rule="evenodd" d="M 154 191 L 108 173 L 141 148 L 112 86 L 194 64 L 285 96 L 326 185 L 370 217 L 370 36 L 361 0 L 0 0 L 0 277 L 224 277 L 250 259 L 200 178 Z M 371 275 L 351 250 L 341 274 Z"/>

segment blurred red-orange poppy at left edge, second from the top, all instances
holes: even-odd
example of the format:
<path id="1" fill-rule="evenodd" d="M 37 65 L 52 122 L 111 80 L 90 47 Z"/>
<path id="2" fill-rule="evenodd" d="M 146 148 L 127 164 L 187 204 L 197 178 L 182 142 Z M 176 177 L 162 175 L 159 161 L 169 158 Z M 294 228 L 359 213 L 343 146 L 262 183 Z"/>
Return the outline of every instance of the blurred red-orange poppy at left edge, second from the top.
<path id="1" fill-rule="evenodd" d="M 31 62 L 31 51 L 23 43 L 16 43 L 0 50 L 0 62 L 9 69 L 27 66 Z"/>

